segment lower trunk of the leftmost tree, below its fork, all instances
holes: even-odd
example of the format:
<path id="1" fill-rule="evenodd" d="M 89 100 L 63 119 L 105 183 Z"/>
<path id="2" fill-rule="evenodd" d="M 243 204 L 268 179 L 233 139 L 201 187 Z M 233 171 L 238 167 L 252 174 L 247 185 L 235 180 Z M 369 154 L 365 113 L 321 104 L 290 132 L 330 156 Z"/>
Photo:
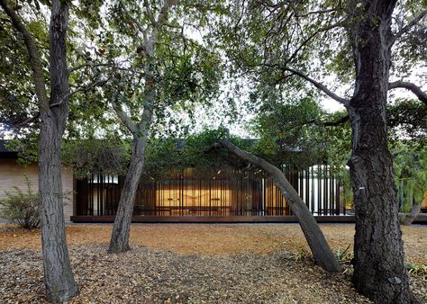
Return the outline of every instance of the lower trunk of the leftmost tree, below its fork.
<path id="1" fill-rule="evenodd" d="M 67 301 L 77 295 L 69 263 L 62 201 L 61 135 L 51 113 L 41 115 L 39 192 L 41 194 L 41 246 L 44 283 L 51 302 Z"/>

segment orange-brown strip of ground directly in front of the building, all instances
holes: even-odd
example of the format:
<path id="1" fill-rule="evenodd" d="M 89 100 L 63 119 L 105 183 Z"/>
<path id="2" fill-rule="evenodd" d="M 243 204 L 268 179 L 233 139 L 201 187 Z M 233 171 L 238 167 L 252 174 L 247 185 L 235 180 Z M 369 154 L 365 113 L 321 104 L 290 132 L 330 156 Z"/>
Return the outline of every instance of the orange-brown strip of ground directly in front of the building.
<path id="1" fill-rule="evenodd" d="M 334 250 L 353 244 L 354 225 L 321 225 Z M 68 245 L 108 244 L 112 225 L 67 226 Z M 406 259 L 427 264 L 427 226 L 403 227 Z M 298 225 L 136 224 L 131 245 L 166 249 L 183 255 L 268 254 L 278 249 L 299 252 L 306 245 Z M 41 248 L 39 230 L 0 224 L 0 250 Z"/>

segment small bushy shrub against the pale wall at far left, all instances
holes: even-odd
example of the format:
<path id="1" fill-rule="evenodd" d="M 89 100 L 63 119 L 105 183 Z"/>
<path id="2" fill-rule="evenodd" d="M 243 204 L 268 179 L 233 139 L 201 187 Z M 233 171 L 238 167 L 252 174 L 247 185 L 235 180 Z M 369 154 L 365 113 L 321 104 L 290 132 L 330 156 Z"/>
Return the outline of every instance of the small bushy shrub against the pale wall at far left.
<path id="1" fill-rule="evenodd" d="M 14 186 L 14 192 L 5 191 L 6 197 L 0 200 L 0 216 L 18 223 L 22 228 L 32 229 L 40 226 L 40 197 L 32 192 L 32 182 L 26 174 L 23 176 L 27 190 L 23 192 Z"/>

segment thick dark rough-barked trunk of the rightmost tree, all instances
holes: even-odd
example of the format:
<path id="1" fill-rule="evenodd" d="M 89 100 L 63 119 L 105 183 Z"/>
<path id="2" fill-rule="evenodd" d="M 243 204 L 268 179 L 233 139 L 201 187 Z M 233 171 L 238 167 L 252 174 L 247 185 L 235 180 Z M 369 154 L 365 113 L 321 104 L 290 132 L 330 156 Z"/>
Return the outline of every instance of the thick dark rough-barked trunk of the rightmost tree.
<path id="1" fill-rule="evenodd" d="M 352 129 L 349 161 L 354 193 L 356 289 L 376 303 L 416 303 L 404 266 L 404 244 L 392 156 L 387 148 L 386 100 L 390 68 L 390 22 L 395 1 L 358 6 L 353 29 L 356 89 L 347 109 Z"/>

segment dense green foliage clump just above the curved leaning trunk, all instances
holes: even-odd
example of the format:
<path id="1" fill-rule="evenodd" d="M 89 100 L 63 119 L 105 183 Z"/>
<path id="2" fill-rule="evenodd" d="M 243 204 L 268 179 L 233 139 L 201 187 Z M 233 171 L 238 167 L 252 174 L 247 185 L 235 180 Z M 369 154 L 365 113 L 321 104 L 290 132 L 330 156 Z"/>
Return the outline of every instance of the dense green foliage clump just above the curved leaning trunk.
<path id="1" fill-rule="evenodd" d="M 322 110 L 309 97 L 298 102 L 264 103 L 252 131 L 259 136 L 257 148 L 275 163 L 313 165 L 324 161 Z"/>

